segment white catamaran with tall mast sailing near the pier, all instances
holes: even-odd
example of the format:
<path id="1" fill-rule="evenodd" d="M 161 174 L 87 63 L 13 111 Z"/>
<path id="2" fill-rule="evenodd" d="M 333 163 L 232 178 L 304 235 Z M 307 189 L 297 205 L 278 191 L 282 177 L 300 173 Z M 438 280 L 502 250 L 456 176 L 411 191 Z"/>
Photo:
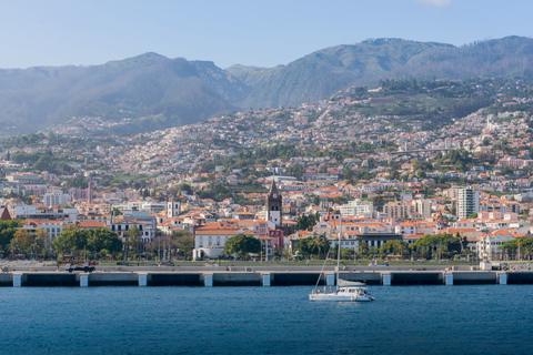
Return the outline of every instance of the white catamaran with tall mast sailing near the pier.
<path id="1" fill-rule="evenodd" d="M 374 301 L 365 287 L 340 287 L 339 286 L 339 265 L 341 262 L 341 235 L 342 235 L 342 216 L 339 223 L 339 247 L 336 253 L 336 287 L 334 291 L 328 292 L 328 287 L 319 288 L 318 283 L 313 292 L 309 295 L 309 301 L 325 301 L 325 302 L 370 302 Z M 328 260 L 328 256 L 325 257 Z M 324 262 L 325 265 L 325 262 Z M 320 280 L 320 276 L 319 276 Z"/>

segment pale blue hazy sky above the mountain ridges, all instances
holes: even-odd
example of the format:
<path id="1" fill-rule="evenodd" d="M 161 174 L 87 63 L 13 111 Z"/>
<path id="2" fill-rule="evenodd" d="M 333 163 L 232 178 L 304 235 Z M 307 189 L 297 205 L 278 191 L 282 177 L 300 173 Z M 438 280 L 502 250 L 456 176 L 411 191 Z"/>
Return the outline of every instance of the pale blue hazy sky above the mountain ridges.
<path id="1" fill-rule="evenodd" d="M 455 45 L 533 36 L 533 0 L 0 0 L 0 68 L 145 52 L 274 67 L 369 38 Z"/>

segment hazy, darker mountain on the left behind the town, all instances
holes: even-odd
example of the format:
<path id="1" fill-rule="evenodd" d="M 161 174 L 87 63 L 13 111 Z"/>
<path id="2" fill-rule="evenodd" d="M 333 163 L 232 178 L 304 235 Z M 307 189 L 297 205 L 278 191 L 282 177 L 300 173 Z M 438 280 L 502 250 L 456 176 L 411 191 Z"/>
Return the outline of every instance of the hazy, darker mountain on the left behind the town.
<path id="1" fill-rule="evenodd" d="M 0 71 L 0 123 L 19 133 L 73 116 L 133 119 L 128 130 L 154 130 L 234 111 L 248 95 L 240 80 L 211 62 L 145 53 L 94 67 Z"/>

